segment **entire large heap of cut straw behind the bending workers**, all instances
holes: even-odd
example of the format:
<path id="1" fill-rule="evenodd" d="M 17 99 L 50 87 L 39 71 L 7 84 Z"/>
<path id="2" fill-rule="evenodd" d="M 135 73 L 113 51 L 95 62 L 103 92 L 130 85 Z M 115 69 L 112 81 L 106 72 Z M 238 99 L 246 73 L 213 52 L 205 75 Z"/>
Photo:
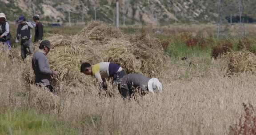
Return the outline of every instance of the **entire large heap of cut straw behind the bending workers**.
<path id="1" fill-rule="evenodd" d="M 103 33 L 95 35 L 96 29 Z M 149 36 L 132 36 L 131 39 L 135 40 L 124 39 L 120 36 L 122 34 L 113 32 L 113 29 L 99 22 L 92 22 L 75 36 L 51 36 L 49 40 L 54 48 L 47 57 L 50 67 L 59 73 L 59 76 L 53 79 L 53 85 L 59 85 L 60 82 L 68 85 L 94 83 L 90 76 L 80 73 L 81 62 L 115 62 L 127 73 L 142 73 L 148 77 L 157 77 L 162 73 L 166 56 L 159 40 Z M 92 38 L 92 35 L 96 38 Z M 108 39 L 108 42 L 95 41 L 102 37 Z M 24 67 L 25 80 L 28 83 L 34 82 L 31 56 L 25 60 Z"/>

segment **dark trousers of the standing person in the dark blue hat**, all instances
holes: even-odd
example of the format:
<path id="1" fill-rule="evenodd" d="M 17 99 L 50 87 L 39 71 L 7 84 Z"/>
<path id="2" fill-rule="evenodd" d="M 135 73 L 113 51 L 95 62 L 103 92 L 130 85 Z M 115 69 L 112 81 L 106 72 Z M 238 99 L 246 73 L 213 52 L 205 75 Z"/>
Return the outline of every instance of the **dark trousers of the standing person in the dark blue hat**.
<path id="1" fill-rule="evenodd" d="M 33 53 L 32 40 L 31 39 L 21 40 L 20 50 L 21 50 L 21 58 L 23 60 L 26 59 L 27 55 L 32 55 Z"/>

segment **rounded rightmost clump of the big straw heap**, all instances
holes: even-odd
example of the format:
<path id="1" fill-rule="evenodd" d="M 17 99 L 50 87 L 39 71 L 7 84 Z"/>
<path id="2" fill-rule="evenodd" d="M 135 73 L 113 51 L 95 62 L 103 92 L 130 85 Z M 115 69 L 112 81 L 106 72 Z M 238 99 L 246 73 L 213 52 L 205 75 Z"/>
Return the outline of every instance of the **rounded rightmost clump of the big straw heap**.
<path id="1" fill-rule="evenodd" d="M 130 42 L 133 55 L 141 61 L 141 73 L 150 77 L 161 75 L 167 60 L 161 41 L 148 35 L 133 35 Z"/>

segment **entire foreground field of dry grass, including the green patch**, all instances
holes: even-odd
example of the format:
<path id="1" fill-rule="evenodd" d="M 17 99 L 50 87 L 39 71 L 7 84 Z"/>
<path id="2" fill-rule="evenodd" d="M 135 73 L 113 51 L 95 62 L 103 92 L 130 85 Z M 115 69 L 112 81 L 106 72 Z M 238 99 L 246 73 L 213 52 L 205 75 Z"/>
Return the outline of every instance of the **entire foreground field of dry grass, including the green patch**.
<path id="1" fill-rule="evenodd" d="M 170 57 L 156 75 L 163 92 L 131 100 L 123 100 L 110 83 L 114 96 L 98 95 L 88 80 L 93 78 L 85 76 L 85 84 L 59 82 L 53 95 L 24 80 L 30 65 L 18 58 L 19 48 L 12 57 L 1 51 L 0 135 L 228 135 L 240 118 L 247 126 L 240 124 L 240 134 L 231 135 L 253 135 L 255 114 L 243 103 L 256 105 L 256 76 L 245 71 L 227 76 L 229 60 L 212 59 L 212 44 L 202 50 L 170 43 L 165 52 Z"/>

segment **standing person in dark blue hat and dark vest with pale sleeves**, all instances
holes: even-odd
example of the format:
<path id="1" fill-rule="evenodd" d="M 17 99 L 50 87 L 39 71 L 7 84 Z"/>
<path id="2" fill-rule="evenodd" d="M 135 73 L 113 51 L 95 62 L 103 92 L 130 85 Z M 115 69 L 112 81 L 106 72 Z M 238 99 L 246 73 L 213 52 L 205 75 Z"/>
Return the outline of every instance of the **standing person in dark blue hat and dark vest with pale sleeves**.
<path id="1" fill-rule="evenodd" d="M 22 59 L 26 59 L 27 54 L 32 55 L 33 47 L 32 47 L 32 33 L 31 29 L 34 28 L 34 25 L 31 22 L 27 22 L 25 16 L 20 16 L 19 20 L 17 20 L 18 25 L 17 35 L 15 42 L 18 43 L 21 39 L 21 57 Z M 27 51 L 27 48 L 29 52 Z"/>

